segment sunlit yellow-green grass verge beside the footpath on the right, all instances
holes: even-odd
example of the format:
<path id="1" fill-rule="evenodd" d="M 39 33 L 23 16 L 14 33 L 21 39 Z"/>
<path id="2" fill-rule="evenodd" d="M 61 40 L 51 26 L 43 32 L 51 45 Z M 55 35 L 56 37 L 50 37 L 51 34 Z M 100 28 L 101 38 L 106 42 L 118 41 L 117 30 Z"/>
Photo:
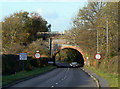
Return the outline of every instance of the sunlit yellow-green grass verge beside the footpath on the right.
<path id="1" fill-rule="evenodd" d="M 106 73 L 103 72 L 102 70 L 96 70 L 93 67 L 87 67 L 85 66 L 86 69 L 93 71 L 96 73 L 98 76 L 103 77 L 106 79 L 110 85 L 110 87 L 118 87 L 118 75 L 117 74 L 111 74 L 111 73 Z"/>

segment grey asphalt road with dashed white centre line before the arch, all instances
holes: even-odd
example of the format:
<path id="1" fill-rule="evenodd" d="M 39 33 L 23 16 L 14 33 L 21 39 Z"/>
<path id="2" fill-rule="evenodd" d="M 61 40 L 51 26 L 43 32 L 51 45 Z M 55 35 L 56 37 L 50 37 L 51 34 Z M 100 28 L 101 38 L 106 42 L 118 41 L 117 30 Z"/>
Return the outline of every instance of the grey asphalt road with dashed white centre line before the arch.
<path id="1" fill-rule="evenodd" d="M 97 87 L 80 68 L 57 68 L 11 87 Z"/>

